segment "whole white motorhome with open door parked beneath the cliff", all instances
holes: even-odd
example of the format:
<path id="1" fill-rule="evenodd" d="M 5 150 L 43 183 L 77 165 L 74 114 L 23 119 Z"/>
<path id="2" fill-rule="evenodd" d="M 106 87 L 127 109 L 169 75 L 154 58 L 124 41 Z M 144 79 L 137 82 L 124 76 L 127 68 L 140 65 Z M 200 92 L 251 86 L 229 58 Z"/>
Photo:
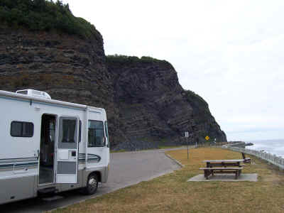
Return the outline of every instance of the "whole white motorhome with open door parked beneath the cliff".
<path id="1" fill-rule="evenodd" d="M 0 90 L 0 204 L 107 182 L 106 111 L 33 89 Z"/>

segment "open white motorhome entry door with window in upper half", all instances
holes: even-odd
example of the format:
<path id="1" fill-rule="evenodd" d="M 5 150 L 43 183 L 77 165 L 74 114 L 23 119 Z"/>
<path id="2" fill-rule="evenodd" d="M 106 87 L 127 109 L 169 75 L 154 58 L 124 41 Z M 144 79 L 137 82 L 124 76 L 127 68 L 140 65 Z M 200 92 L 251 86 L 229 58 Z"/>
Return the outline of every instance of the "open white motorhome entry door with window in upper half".
<path id="1" fill-rule="evenodd" d="M 79 119 L 60 116 L 57 149 L 57 183 L 78 182 L 78 126 Z"/>

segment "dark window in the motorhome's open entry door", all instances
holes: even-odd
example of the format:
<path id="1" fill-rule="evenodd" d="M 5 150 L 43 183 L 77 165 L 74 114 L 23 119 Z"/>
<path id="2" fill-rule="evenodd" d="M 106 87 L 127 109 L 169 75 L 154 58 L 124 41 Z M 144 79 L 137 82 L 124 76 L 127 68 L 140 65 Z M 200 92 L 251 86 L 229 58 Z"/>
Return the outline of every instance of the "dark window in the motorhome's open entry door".
<path id="1" fill-rule="evenodd" d="M 62 143 L 75 143 L 75 119 L 63 119 L 62 120 Z"/>

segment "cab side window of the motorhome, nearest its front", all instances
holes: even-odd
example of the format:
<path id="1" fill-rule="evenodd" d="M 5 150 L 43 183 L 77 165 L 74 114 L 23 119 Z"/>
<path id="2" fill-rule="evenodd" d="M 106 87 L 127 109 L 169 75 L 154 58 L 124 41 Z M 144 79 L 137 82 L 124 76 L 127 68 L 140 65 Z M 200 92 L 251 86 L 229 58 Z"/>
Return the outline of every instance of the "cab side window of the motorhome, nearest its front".
<path id="1" fill-rule="evenodd" d="M 104 124 L 89 120 L 88 147 L 104 146 Z"/>

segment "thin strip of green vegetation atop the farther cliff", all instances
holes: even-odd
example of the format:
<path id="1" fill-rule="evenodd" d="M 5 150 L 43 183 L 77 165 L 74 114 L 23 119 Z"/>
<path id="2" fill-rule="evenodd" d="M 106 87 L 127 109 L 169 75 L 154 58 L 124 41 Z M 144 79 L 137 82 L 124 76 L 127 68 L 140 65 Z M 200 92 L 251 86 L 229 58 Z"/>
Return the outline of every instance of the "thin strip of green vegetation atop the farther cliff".
<path id="1" fill-rule="evenodd" d="M 142 56 L 141 58 L 138 58 L 136 56 L 115 54 L 115 55 L 107 55 L 107 62 L 129 63 L 129 62 L 167 62 L 167 61 L 151 58 L 150 56 Z"/>

